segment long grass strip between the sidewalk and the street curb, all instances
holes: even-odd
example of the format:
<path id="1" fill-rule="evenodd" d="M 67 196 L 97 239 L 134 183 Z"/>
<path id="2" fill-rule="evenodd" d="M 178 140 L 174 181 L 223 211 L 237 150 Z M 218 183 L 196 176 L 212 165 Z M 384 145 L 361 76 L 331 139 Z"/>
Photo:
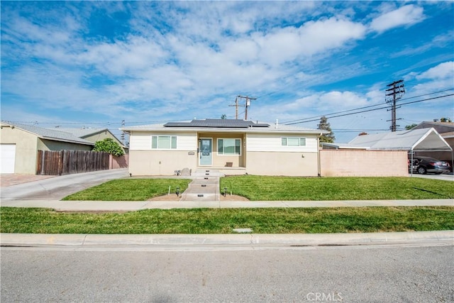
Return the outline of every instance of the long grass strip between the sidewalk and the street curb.
<path id="1" fill-rule="evenodd" d="M 0 208 L 2 233 L 356 233 L 454 229 L 454 206 L 146 209 L 123 214 Z"/>

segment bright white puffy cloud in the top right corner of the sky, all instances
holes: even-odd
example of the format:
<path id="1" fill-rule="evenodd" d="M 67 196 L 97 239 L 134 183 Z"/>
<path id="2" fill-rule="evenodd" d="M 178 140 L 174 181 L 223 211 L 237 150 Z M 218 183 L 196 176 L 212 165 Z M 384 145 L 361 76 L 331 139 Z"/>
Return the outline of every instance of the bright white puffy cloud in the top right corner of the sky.
<path id="1" fill-rule="evenodd" d="M 409 4 L 402 6 L 394 11 L 382 13 L 370 23 L 370 28 L 373 31 L 382 33 L 390 28 L 399 26 L 411 26 L 414 23 L 419 23 L 425 18 L 423 8 Z"/>

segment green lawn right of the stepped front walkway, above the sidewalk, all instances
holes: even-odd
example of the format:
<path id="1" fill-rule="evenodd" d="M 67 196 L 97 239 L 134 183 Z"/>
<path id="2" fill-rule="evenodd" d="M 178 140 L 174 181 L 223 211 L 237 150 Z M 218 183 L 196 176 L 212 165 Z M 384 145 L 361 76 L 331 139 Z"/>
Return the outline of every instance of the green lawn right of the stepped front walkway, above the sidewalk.
<path id="1" fill-rule="evenodd" d="M 221 191 L 252 201 L 452 199 L 453 182 L 409 177 L 223 177 Z"/>

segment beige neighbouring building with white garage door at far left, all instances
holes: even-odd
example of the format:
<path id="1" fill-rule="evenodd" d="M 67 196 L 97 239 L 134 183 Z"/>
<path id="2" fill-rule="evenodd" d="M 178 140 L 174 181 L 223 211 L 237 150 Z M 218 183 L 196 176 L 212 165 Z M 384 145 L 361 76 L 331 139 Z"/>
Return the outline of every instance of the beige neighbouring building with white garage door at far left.
<path id="1" fill-rule="evenodd" d="M 0 173 L 35 175 L 38 150 L 92 150 L 94 143 L 55 129 L 1 121 Z"/>

